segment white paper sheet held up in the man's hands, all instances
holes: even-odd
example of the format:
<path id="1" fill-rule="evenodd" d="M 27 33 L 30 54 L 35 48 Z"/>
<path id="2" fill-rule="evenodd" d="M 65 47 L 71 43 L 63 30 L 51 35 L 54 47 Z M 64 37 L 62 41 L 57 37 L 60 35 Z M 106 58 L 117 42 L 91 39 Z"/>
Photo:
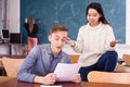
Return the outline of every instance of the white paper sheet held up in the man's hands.
<path id="1" fill-rule="evenodd" d="M 73 64 L 58 63 L 54 73 L 56 74 L 56 77 L 58 78 L 57 80 L 70 82 L 78 74 L 80 66 L 81 64 L 79 63 L 73 63 Z"/>

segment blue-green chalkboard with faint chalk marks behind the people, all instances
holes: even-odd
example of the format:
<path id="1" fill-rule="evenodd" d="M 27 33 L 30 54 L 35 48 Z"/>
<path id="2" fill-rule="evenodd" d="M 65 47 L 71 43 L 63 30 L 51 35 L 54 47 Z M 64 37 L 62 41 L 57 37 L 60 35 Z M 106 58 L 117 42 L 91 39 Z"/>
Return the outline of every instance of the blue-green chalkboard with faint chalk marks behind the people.
<path id="1" fill-rule="evenodd" d="M 26 42 L 27 33 L 24 18 L 34 16 L 39 26 L 39 44 L 48 44 L 50 28 L 63 24 L 69 28 L 68 36 L 76 40 L 79 27 L 87 24 L 86 8 L 92 2 L 100 2 L 116 39 L 126 42 L 126 0 L 21 0 L 21 32 Z"/>

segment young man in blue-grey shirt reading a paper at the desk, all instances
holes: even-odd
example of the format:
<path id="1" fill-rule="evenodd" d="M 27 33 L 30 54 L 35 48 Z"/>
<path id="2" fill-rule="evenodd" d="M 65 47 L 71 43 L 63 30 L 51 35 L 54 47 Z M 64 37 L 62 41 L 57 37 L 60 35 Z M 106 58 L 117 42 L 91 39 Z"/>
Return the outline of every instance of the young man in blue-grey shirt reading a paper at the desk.
<path id="1" fill-rule="evenodd" d="M 54 84 L 57 77 L 53 72 L 57 63 L 70 63 L 69 55 L 62 51 L 67 34 L 68 29 L 65 26 L 54 25 L 49 35 L 51 44 L 32 48 L 17 73 L 17 79 L 44 85 Z M 72 82 L 80 83 L 80 75 L 77 74 Z"/>

